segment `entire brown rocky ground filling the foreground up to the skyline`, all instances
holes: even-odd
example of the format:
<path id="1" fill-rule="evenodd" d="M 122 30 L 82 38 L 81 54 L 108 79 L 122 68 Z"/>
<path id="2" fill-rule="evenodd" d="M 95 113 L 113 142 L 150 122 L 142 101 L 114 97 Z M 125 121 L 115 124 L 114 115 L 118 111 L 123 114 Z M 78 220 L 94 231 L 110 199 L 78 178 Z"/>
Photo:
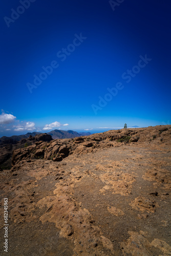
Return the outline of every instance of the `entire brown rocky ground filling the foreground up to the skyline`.
<path id="1" fill-rule="evenodd" d="M 4 198 L 9 255 L 171 255 L 171 125 L 36 136 L 0 172 L 1 255 Z"/>

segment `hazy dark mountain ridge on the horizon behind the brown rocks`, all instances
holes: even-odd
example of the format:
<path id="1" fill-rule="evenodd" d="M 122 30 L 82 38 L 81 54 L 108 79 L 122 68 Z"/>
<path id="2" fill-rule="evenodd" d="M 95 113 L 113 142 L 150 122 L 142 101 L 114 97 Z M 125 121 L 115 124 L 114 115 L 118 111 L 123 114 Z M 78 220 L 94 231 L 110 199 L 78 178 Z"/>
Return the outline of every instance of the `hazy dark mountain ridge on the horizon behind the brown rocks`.
<path id="1" fill-rule="evenodd" d="M 3 137 L 0 138 L 0 144 L 16 144 L 18 141 L 20 141 L 22 139 L 29 138 L 30 135 L 34 137 L 37 134 L 41 134 L 41 133 L 33 132 L 33 133 L 27 133 L 27 134 L 24 134 L 24 135 L 13 135 L 11 137 L 3 136 Z M 53 131 L 51 131 L 47 134 L 51 135 L 53 139 L 71 139 L 71 138 L 75 138 L 75 137 L 91 135 L 90 132 L 88 132 L 88 133 L 77 133 L 77 132 L 72 131 L 72 130 L 68 130 L 68 131 L 53 130 Z"/>

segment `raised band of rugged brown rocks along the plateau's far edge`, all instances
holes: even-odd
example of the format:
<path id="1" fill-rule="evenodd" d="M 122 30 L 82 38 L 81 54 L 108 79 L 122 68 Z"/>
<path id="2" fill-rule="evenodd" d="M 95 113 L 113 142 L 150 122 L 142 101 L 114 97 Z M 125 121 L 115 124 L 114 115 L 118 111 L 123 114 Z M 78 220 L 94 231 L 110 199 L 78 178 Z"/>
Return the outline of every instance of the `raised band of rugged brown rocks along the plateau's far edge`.
<path id="1" fill-rule="evenodd" d="M 13 153 L 12 164 L 22 159 L 46 159 L 62 161 L 71 154 L 87 154 L 96 152 L 98 148 L 120 146 L 125 143 L 163 143 L 170 137 L 171 125 L 136 129 L 113 130 L 74 139 L 56 139 L 48 134 L 29 137 L 32 145 L 16 150 Z"/>

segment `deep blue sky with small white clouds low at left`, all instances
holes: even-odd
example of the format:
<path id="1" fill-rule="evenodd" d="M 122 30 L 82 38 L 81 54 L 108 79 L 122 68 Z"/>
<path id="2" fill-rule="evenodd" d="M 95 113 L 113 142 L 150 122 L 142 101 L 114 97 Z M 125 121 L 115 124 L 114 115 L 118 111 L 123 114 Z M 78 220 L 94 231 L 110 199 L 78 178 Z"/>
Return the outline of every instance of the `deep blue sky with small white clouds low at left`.
<path id="1" fill-rule="evenodd" d="M 118 3 L 0 3 L 0 137 L 169 124 L 170 2 Z"/>

